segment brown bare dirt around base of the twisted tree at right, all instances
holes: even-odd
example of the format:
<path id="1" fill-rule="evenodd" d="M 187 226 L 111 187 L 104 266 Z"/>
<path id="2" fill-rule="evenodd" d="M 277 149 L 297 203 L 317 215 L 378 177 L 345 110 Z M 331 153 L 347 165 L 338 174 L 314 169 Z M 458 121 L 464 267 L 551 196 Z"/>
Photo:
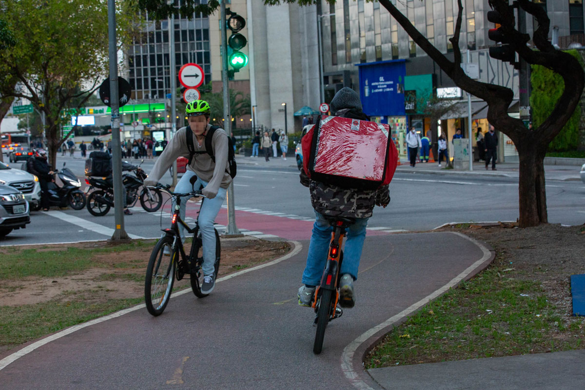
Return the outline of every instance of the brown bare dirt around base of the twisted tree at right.
<path id="1" fill-rule="evenodd" d="M 516 223 L 500 223 L 497 226 L 469 225 L 441 230 L 457 230 L 490 244 L 496 253 L 494 264 L 505 264 L 506 270 L 513 271 L 514 278 L 540 282 L 566 326 L 583 319 L 572 316 L 570 277 L 585 274 L 585 224 L 545 224 L 520 229 Z M 555 335 L 555 338 L 563 337 L 560 333 Z"/>

